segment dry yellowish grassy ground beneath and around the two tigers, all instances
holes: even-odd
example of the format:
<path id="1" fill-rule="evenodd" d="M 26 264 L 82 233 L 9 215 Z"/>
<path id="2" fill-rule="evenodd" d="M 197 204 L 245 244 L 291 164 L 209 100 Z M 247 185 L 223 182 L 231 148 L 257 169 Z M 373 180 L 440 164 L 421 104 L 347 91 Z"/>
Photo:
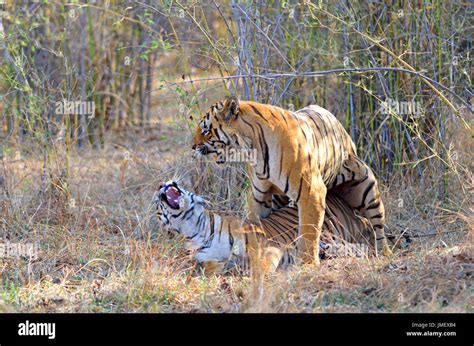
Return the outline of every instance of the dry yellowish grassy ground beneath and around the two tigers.
<path id="1" fill-rule="evenodd" d="M 383 186 L 388 225 L 393 233 L 409 232 L 413 242 L 392 258 L 325 260 L 320 268 L 293 267 L 261 282 L 192 274 L 193 262 L 180 240 L 158 226 L 152 202 L 160 180 L 196 184 L 188 178 L 200 168 L 190 158 L 187 131 L 162 125 L 115 133 L 103 150 L 71 152 L 67 181 L 52 170 L 54 184 L 43 192 L 41 157 L 11 152 L 3 184 L 13 193 L 0 202 L 0 231 L 4 241 L 39 242 L 41 251 L 36 260 L 0 258 L 0 311 L 474 310 L 469 201 L 459 193 L 447 204 L 430 202 L 434 192 L 401 178 Z M 58 163 L 64 155 L 57 152 Z M 229 204 L 216 201 L 214 208 L 221 207 Z M 251 293 L 259 289 L 263 295 Z"/>

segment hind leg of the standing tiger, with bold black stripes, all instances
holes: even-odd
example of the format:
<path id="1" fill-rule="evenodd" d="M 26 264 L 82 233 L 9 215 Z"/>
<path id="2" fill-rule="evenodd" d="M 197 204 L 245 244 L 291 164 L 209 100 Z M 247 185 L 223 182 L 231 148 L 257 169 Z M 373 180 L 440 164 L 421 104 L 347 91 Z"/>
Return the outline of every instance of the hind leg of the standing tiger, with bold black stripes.
<path id="1" fill-rule="evenodd" d="M 367 164 L 350 155 L 337 175 L 331 191 L 339 195 L 353 209 L 360 212 L 372 225 L 375 233 L 375 252 L 392 254 L 385 236 L 385 209 L 377 179 Z"/>

